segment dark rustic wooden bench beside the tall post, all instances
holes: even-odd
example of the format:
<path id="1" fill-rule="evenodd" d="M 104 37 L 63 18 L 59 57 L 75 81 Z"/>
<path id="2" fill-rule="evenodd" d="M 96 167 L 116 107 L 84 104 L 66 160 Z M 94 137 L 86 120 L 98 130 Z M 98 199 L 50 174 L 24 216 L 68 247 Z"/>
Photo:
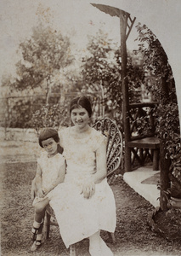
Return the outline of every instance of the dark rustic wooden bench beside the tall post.
<path id="1" fill-rule="evenodd" d="M 129 105 L 129 138 L 127 148 L 130 150 L 132 171 L 135 162 L 144 166 L 146 160 L 153 162 L 153 171 L 159 170 L 160 140 L 156 137 L 156 122 L 154 108 L 156 102 L 132 103 Z M 146 125 L 144 131 L 139 132 L 142 125 Z"/>

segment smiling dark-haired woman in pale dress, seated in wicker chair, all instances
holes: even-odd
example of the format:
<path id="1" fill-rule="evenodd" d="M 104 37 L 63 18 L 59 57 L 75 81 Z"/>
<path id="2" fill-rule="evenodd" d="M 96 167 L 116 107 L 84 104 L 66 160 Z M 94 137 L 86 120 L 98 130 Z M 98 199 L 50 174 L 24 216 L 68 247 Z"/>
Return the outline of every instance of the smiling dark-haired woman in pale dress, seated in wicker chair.
<path id="1" fill-rule="evenodd" d="M 100 230 L 116 229 L 115 199 L 106 180 L 106 138 L 88 125 L 92 107 L 87 97 L 72 100 L 70 113 L 73 126 L 59 133 L 65 181 L 44 203 L 54 209 L 65 247 L 88 237 L 92 256 L 110 256 L 113 253 L 99 236 Z M 71 255 L 76 252 L 71 250 Z"/>

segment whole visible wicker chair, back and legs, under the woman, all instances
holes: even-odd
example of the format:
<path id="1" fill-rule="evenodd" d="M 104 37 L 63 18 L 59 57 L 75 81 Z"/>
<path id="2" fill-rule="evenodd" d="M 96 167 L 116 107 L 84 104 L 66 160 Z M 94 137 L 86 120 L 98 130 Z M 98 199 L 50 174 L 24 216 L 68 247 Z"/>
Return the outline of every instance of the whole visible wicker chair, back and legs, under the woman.
<path id="1" fill-rule="evenodd" d="M 93 128 L 100 131 L 107 137 L 107 177 L 108 180 L 111 175 L 119 168 L 122 160 L 122 133 L 119 131 L 115 122 L 109 118 L 99 119 Z M 47 207 L 43 225 L 43 238 L 46 240 L 49 237 L 50 225 L 58 226 L 54 211 L 51 207 Z M 114 233 L 108 232 L 111 242 L 115 242 Z"/>

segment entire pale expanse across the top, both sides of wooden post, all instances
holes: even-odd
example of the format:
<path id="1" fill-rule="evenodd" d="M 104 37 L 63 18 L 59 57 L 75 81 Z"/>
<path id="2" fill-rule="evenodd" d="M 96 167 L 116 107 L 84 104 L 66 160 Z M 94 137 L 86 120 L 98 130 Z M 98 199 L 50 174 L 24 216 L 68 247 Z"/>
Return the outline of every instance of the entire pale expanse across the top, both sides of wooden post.
<path id="1" fill-rule="evenodd" d="M 14 72 L 14 63 L 20 60 L 20 55 L 17 54 L 19 44 L 31 36 L 31 29 L 37 25 L 39 19 L 63 34 L 71 35 L 71 41 L 76 44 L 76 49 L 82 49 L 82 51 L 88 43 L 88 34 L 95 34 L 99 27 L 108 32 L 109 37 L 119 44 L 119 19 L 106 15 L 90 3 L 115 6 L 128 11 L 132 17 L 137 15 L 135 25 L 139 21 L 142 24 L 145 22 L 156 36 L 167 33 L 169 44 L 164 38 L 158 38 L 162 39 L 161 44 L 166 50 L 167 47 L 171 49 L 170 44 L 172 44 L 171 55 L 176 59 L 179 58 L 178 53 L 174 51 L 181 41 L 181 15 L 179 14 L 181 1 L 179 0 L 1 0 L 0 79 L 4 72 Z M 178 15 L 179 20 L 177 20 Z M 133 27 L 127 39 L 128 49 L 135 47 L 134 39 L 137 36 L 135 31 Z M 178 31 L 179 42 L 175 39 L 176 31 Z"/>

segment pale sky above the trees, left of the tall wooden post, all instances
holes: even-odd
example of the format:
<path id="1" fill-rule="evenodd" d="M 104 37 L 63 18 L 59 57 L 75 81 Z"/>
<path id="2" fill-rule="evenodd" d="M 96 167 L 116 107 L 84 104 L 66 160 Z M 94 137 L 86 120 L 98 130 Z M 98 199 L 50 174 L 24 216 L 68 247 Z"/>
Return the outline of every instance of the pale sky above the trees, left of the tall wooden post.
<path id="1" fill-rule="evenodd" d="M 105 1 L 110 3 L 111 1 Z M 109 38 L 120 44 L 120 23 L 87 0 L 1 0 L 0 2 L 0 79 L 3 73 L 14 74 L 14 64 L 20 60 L 20 42 L 31 36 L 31 29 L 42 20 L 54 29 L 71 36 L 75 49 L 84 51 L 88 35 L 101 27 Z M 135 31 L 135 30 L 134 30 Z M 128 48 L 133 48 L 136 33 L 128 39 Z M 75 53 L 76 54 L 76 53 Z"/>

